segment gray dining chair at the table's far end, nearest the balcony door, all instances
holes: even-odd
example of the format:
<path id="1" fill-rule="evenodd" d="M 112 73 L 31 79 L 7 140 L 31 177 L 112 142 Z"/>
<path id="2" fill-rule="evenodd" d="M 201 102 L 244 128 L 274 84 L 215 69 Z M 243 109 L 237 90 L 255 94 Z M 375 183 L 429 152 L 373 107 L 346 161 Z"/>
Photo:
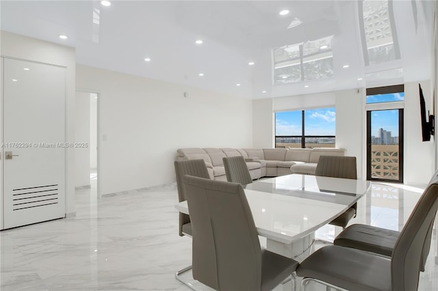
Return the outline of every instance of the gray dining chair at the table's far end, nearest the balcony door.
<path id="1" fill-rule="evenodd" d="M 316 166 L 315 176 L 355 179 L 357 180 L 357 165 L 355 156 L 320 156 Z M 345 228 L 350 219 L 356 216 L 357 203 L 353 204 L 339 217 L 329 224 Z"/>

